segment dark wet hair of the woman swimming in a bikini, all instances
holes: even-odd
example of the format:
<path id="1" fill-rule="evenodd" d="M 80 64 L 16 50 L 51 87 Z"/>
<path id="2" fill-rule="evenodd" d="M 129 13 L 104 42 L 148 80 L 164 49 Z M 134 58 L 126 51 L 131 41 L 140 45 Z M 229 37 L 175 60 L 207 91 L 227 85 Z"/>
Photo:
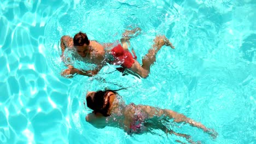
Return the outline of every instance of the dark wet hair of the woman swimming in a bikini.
<path id="1" fill-rule="evenodd" d="M 114 92 L 112 90 L 97 91 L 93 96 L 86 97 L 87 106 L 90 109 L 94 110 L 94 113 L 100 112 L 105 117 L 110 116 L 110 113 L 108 113 L 110 104 L 107 103 L 106 105 L 104 105 L 108 92 L 113 92 L 114 94 L 117 94 L 117 92 Z"/>

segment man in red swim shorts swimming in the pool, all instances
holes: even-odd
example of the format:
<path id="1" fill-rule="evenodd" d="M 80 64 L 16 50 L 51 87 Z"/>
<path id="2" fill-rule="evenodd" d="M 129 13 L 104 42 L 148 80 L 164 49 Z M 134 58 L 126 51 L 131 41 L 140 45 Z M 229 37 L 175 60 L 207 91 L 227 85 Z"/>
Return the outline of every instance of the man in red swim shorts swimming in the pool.
<path id="1" fill-rule="evenodd" d="M 93 76 L 101 70 L 101 68 L 107 62 L 110 64 L 121 65 L 124 69 L 128 70 L 132 74 L 146 78 L 149 74 L 150 66 L 155 62 L 156 53 L 161 49 L 162 46 L 170 46 L 174 49 L 172 43 L 165 36 L 157 36 L 154 39 L 152 49 L 149 49 L 146 56 L 142 59 L 142 65 L 136 60 L 135 52 L 132 54 L 128 50 L 130 45 L 131 35 L 139 33 L 141 29 L 135 28 L 131 31 L 125 31 L 121 38 L 121 44 L 103 44 L 101 45 L 95 40 L 89 40 L 85 33 L 79 32 L 74 35 L 74 38 L 65 35 L 61 38 L 61 50 L 62 57 L 66 47 L 74 47 L 78 54 L 86 59 L 90 63 L 97 65 L 94 70 L 79 70 L 74 68 L 73 65 L 67 65 L 68 69 L 62 72 L 62 76 L 72 76 L 74 74 Z M 107 49 L 113 47 L 112 49 Z M 106 53 L 109 53 L 113 57 L 112 60 L 106 57 Z M 64 58 L 62 58 L 64 59 Z"/>

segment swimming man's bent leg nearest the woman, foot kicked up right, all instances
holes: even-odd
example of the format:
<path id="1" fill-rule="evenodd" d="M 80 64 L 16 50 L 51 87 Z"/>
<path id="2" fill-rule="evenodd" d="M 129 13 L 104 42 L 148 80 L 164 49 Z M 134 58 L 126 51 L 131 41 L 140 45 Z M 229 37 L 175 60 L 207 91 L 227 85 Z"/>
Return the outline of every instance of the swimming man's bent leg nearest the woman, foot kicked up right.
<path id="1" fill-rule="evenodd" d="M 139 76 L 146 78 L 149 74 L 150 66 L 155 62 L 156 53 L 161 49 L 162 46 L 170 46 L 174 49 L 172 43 L 165 36 L 158 36 L 154 39 L 155 43 L 152 46 L 152 49 L 148 50 L 148 53 L 142 59 L 142 65 L 134 59 L 134 63 L 129 70 L 133 71 L 133 73 L 138 74 Z"/>

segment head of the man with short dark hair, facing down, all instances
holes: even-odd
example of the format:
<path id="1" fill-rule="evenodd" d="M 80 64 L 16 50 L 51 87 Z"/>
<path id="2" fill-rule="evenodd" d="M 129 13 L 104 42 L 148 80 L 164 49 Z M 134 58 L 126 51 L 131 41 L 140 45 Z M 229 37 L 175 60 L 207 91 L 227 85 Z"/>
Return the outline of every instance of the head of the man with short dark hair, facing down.
<path id="1" fill-rule="evenodd" d="M 74 47 L 77 48 L 77 52 L 81 57 L 85 57 L 89 52 L 90 41 L 86 33 L 79 32 L 74 35 L 73 38 Z"/>

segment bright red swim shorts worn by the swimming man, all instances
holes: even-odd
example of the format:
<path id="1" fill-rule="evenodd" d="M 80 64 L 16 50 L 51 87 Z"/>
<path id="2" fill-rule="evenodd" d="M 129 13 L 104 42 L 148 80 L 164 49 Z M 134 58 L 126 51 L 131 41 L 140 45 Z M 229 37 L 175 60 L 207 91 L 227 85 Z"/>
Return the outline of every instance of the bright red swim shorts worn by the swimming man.
<path id="1" fill-rule="evenodd" d="M 114 61 L 112 62 L 115 65 L 121 64 L 122 67 L 124 68 L 131 68 L 132 64 L 134 63 L 134 59 L 132 57 L 132 54 L 124 50 L 124 48 L 118 44 L 115 46 L 112 50 L 111 53 L 114 57 Z"/>

